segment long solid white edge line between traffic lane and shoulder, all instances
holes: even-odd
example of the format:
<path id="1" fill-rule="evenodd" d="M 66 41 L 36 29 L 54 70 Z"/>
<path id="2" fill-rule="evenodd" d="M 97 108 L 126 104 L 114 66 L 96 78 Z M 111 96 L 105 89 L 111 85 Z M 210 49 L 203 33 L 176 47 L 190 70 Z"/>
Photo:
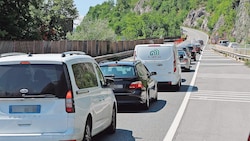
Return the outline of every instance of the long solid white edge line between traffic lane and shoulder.
<path id="1" fill-rule="evenodd" d="M 207 36 L 207 42 L 206 42 L 206 46 L 207 46 L 207 43 L 208 43 L 208 36 Z M 203 48 L 203 51 L 204 49 L 206 48 L 206 46 Z M 182 116 L 185 112 L 185 109 L 187 107 L 187 104 L 188 104 L 188 101 L 189 101 L 189 97 L 190 97 L 190 94 L 192 92 L 192 89 L 193 89 L 193 86 L 194 86 L 194 83 L 195 83 L 195 80 L 196 80 L 196 76 L 197 76 L 197 73 L 198 73 L 198 70 L 199 70 L 199 66 L 200 66 L 200 60 L 202 58 L 202 55 L 203 55 L 203 51 L 201 53 L 201 56 L 199 58 L 199 62 L 197 63 L 197 66 L 195 68 L 195 73 L 193 75 L 193 78 L 192 78 L 192 81 L 190 83 L 190 86 L 188 87 L 188 90 L 187 90 L 187 93 L 182 101 L 182 104 L 174 118 L 174 121 L 172 122 L 170 128 L 168 129 L 168 132 L 166 134 L 166 136 L 164 137 L 163 141 L 172 141 L 173 138 L 174 138 L 174 135 L 177 131 L 177 128 L 179 127 L 179 124 L 181 122 L 181 119 L 182 119 Z"/>

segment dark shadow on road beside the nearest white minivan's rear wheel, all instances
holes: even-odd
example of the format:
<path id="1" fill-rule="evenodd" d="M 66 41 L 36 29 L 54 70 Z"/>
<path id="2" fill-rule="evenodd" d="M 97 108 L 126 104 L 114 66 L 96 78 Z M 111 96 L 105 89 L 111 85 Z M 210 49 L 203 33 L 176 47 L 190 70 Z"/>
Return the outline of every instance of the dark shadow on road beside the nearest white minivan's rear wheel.
<path id="1" fill-rule="evenodd" d="M 103 132 L 93 138 L 93 141 L 135 141 L 133 132 L 124 129 L 116 129 L 115 134 L 107 134 Z"/>

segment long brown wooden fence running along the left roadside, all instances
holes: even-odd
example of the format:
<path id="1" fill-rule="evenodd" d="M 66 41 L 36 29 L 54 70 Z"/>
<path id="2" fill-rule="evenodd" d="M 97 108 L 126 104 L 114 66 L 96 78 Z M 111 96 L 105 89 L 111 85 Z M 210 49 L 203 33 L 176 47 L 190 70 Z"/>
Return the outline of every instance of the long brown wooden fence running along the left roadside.
<path id="1" fill-rule="evenodd" d="M 137 44 L 162 44 L 164 39 L 134 41 L 0 41 L 0 54 L 8 52 L 25 53 L 62 53 L 65 51 L 83 51 L 93 57 L 133 50 Z"/>

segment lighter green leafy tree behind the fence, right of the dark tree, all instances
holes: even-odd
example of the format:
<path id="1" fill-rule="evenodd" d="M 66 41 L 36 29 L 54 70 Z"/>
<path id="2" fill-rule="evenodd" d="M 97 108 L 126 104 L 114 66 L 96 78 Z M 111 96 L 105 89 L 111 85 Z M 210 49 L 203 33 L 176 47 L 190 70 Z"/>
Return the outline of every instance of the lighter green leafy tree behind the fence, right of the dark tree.
<path id="1" fill-rule="evenodd" d="M 47 0 L 42 13 L 41 33 L 44 40 L 66 39 L 67 32 L 73 30 L 73 20 L 78 16 L 73 0 Z"/>

